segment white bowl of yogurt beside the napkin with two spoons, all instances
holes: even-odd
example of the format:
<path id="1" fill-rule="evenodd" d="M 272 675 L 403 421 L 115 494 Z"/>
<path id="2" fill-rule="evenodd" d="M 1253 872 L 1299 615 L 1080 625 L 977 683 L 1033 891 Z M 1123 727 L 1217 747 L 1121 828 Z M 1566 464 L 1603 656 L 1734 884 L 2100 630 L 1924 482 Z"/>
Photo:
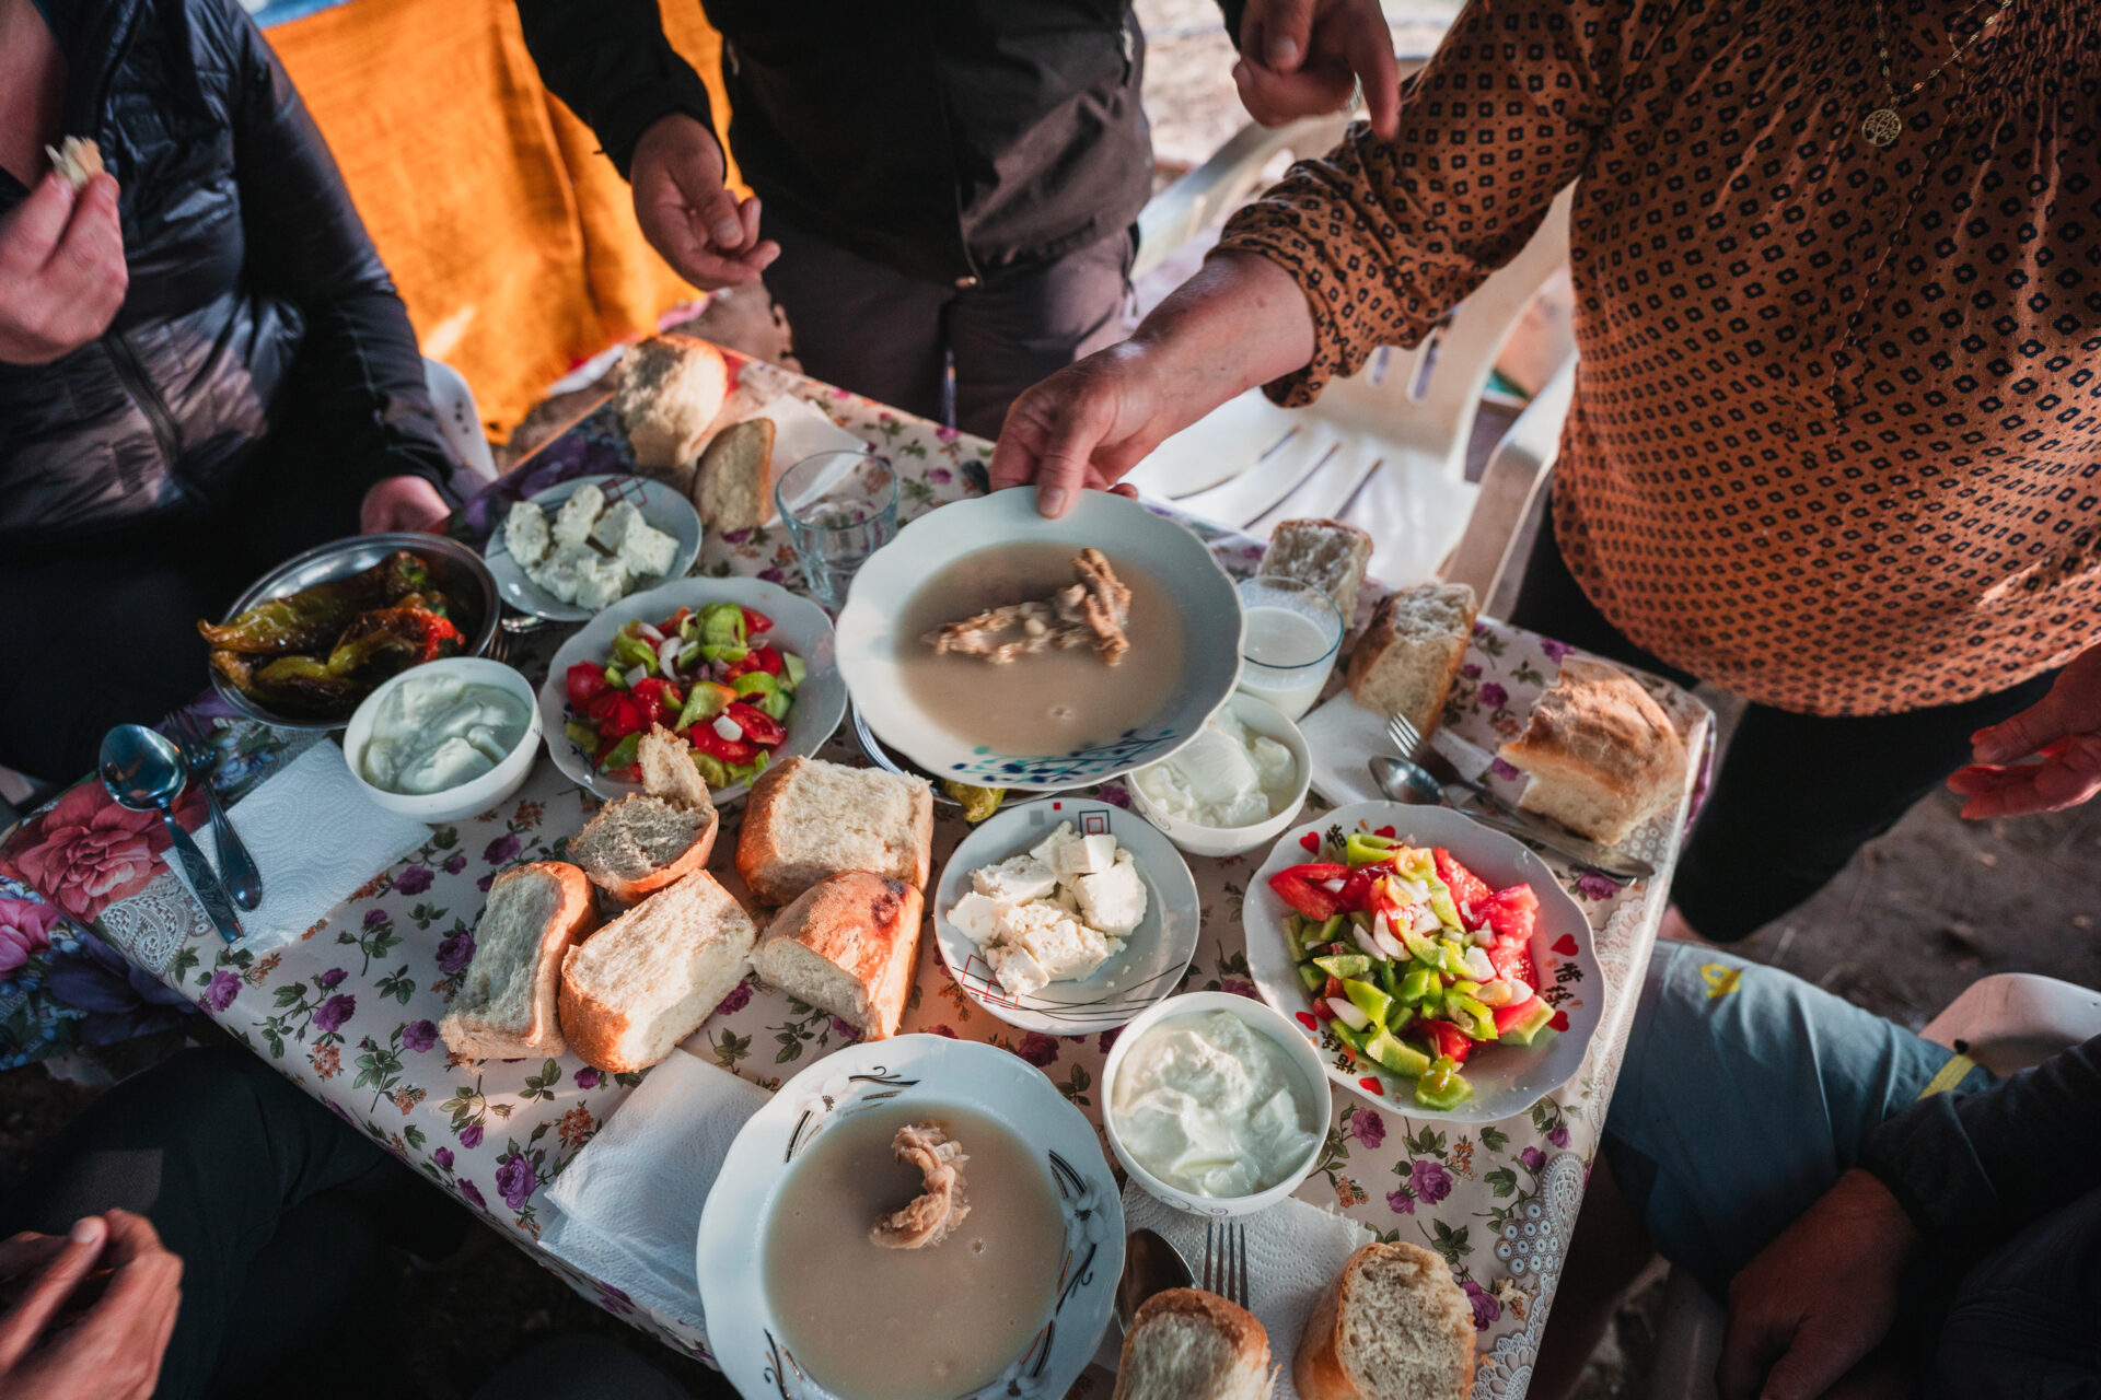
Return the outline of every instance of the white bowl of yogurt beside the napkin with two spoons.
<path id="1" fill-rule="evenodd" d="M 540 705 L 502 661 L 448 657 L 410 667 L 366 697 L 342 758 L 378 806 L 448 823 L 504 802 L 532 775 Z"/>

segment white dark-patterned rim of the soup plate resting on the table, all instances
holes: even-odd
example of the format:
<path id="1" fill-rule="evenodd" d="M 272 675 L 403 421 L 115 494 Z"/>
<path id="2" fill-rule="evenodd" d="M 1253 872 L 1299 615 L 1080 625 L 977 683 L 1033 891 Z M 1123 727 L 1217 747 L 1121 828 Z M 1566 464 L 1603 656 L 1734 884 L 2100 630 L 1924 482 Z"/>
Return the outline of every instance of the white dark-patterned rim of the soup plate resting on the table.
<path id="1" fill-rule="evenodd" d="M 834 1121 L 870 1104 L 924 1100 L 973 1108 L 1042 1154 L 1065 1215 L 1063 1287 L 1027 1350 L 960 1400 L 1059 1400 L 1086 1371 L 1124 1272 L 1124 1205 L 1086 1117 L 1025 1060 L 979 1041 L 899 1035 L 826 1056 L 782 1085 L 729 1146 L 700 1215 L 695 1276 L 708 1345 L 742 1396 L 828 1400 L 775 1322 L 765 1289 L 765 1224 L 794 1159 Z"/>

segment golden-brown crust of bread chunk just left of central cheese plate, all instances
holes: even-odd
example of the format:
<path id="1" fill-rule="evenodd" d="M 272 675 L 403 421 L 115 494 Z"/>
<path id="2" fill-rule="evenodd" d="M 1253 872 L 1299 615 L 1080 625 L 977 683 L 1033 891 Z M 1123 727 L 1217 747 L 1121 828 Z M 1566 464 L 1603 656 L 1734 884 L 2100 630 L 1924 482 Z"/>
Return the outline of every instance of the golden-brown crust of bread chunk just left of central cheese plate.
<path id="1" fill-rule="evenodd" d="M 889 1039 L 897 1035 L 906 997 L 912 995 L 924 913 L 924 896 L 903 879 L 847 871 L 819 879 L 782 909 L 752 961 L 763 961 L 767 945 L 803 945 L 861 987 L 868 999 L 861 1039 Z"/>

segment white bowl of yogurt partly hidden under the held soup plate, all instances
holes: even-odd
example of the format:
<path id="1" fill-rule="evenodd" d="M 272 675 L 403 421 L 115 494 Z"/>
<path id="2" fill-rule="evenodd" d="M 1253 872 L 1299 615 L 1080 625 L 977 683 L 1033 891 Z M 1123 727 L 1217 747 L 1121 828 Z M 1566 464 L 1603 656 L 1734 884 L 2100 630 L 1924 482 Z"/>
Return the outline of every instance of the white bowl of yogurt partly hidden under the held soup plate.
<path id="1" fill-rule="evenodd" d="M 1305 735 L 1235 693 L 1172 758 L 1130 775 L 1130 804 L 1191 856 L 1240 856 L 1292 825 L 1313 781 Z"/>

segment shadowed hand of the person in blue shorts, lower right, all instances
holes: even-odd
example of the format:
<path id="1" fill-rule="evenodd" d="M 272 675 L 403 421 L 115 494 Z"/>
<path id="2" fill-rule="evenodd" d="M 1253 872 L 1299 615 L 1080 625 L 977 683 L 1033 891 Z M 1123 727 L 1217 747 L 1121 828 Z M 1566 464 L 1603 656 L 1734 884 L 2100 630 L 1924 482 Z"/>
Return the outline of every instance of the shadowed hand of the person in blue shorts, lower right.
<path id="1" fill-rule="evenodd" d="M 1847 1171 L 1729 1282 L 1714 1385 L 1723 1400 L 1815 1400 L 1897 1320 L 1918 1230 L 1866 1171 Z"/>

